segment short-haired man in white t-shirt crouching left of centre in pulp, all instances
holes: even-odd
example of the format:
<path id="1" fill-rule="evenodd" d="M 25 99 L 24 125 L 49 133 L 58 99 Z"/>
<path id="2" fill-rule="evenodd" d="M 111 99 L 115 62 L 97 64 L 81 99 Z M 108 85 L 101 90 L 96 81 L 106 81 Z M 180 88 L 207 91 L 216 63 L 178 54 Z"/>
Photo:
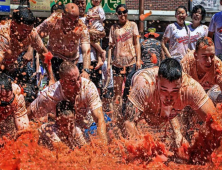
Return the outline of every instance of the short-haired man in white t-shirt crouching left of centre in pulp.
<path id="1" fill-rule="evenodd" d="M 56 105 L 63 100 L 75 106 L 75 122 L 81 128 L 89 128 L 93 121 L 97 123 L 98 135 L 106 143 L 106 124 L 102 111 L 102 102 L 95 85 L 80 77 L 73 62 L 64 61 L 59 68 L 60 80 L 44 89 L 28 108 L 28 114 L 35 118 L 56 113 Z"/>

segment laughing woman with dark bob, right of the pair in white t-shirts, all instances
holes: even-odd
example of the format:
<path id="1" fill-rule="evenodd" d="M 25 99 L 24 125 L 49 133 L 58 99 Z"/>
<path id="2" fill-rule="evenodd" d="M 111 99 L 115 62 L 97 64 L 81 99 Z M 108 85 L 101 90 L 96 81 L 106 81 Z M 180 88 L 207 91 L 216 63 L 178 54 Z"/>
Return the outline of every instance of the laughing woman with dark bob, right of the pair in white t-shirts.
<path id="1" fill-rule="evenodd" d="M 190 34 L 189 49 L 195 50 L 196 42 L 201 37 L 207 37 L 208 27 L 202 25 L 206 16 L 206 10 L 201 5 L 196 5 L 191 11 L 192 24 L 188 26 Z"/>

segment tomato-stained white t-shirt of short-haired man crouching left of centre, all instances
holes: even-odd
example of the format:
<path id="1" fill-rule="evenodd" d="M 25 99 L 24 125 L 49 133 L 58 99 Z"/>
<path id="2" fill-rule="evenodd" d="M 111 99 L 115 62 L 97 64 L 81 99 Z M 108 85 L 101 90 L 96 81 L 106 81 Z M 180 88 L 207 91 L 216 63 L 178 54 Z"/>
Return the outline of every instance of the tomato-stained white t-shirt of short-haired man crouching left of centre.
<path id="1" fill-rule="evenodd" d="M 60 82 L 57 81 L 41 91 L 40 95 L 31 103 L 31 111 L 36 118 L 45 117 L 48 113 L 56 114 L 56 105 L 63 100 L 67 100 L 67 98 Z M 87 122 L 86 128 L 93 123 L 91 112 L 99 107 L 102 107 L 102 102 L 95 84 L 81 78 L 80 92 L 75 99 L 75 112 L 77 115 L 81 115 L 82 122 Z"/>

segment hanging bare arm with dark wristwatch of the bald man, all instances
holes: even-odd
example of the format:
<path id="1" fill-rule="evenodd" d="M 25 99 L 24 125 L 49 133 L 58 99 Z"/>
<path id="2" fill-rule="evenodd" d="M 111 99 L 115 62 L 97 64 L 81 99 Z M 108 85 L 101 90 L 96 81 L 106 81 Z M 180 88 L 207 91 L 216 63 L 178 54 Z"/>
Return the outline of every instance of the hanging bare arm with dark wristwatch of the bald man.
<path id="1" fill-rule="evenodd" d="M 83 43 L 81 47 L 82 47 L 82 56 L 83 56 L 83 69 L 89 69 L 90 64 L 91 64 L 90 44 Z M 89 79 L 90 75 L 87 72 L 83 71 L 81 76 Z"/>

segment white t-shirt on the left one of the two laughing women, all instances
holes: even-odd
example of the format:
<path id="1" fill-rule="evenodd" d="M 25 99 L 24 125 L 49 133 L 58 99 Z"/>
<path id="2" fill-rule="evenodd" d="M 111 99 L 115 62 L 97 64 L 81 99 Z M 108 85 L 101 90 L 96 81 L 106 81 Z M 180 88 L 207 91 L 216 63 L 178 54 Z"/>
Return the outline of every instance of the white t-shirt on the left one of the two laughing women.
<path id="1" fill-rule="evenodd" d="M 170 55 L 179 61 L 186 55 L 189 36 L 185 27 L 180 27 L 176 22 L 167 26 L 163 37 L 170 39 Z"/>

